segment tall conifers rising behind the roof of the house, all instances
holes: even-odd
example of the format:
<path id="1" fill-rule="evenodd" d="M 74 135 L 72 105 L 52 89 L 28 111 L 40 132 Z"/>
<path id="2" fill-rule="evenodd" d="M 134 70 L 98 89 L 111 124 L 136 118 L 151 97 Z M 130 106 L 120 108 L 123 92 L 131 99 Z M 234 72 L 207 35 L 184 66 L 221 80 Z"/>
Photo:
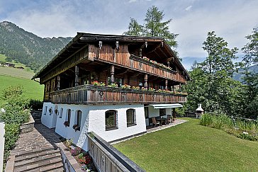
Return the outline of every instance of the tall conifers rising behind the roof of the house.
<path id="1" fill-rule="evenodd" d="M 176 36 L 178 34 L 170 33 L 169 23 L 172 19 L 168 21 L 162 21 L 164 19 L 164 12 L 159 11 L 156 6 L 148 8 L 145 14 L 144 25 L 138 24 L 134 18 L 130 18 L 130 23 L 128 25 L 128 31 L 125 35 L 142 35 L 148 37 L 162 37 L 167 40 L 168 44 L 174 48 L 177 47 Z"/>

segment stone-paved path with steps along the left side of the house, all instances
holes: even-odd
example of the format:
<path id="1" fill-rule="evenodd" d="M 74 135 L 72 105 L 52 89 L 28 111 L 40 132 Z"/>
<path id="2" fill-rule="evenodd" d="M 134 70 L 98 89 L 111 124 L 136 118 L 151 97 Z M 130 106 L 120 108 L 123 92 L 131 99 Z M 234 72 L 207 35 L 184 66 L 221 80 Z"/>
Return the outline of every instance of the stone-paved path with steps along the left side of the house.
<path id="1" fill-rule="evenodd" d="M 62 144 L 59 138 L 44 125 L 34 125 L 33 131 L 20 134 L 6 171 L 64 171 L 60 149 L 57 149 L 57 144 Z"/>

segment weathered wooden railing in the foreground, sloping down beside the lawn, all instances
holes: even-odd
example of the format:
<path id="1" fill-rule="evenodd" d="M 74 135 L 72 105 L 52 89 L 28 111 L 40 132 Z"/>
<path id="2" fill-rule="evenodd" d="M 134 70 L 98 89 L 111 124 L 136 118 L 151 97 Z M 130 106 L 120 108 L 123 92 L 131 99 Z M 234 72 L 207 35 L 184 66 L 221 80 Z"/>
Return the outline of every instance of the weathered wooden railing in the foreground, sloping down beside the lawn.
<path id="1" fill-rule="evenodd" d="M 145 172 L 140 166 L 98 135 L 91 132 L 87 133 L 86 136 L 89 141 L 89 154 L 98 171 Z"/>

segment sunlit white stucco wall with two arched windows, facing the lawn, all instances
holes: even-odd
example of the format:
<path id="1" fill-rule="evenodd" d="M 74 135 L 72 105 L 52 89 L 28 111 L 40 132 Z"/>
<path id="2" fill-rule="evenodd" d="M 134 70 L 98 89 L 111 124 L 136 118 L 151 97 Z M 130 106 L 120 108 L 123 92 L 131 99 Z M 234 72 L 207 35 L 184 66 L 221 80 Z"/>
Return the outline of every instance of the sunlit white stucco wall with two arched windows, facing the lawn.
<path id="1" fill-rule="evenodd" d="M 136 114 L 136 125 L 127 127 L 126 110 L 133 108 Z M 118 129 L 106 131 L 106 110 L 117 110 Z M 146 132 L 143 105 L 92 105 L 89 106 L 89 132 L 95 132 L 107 142 L 133 134 Z"/>

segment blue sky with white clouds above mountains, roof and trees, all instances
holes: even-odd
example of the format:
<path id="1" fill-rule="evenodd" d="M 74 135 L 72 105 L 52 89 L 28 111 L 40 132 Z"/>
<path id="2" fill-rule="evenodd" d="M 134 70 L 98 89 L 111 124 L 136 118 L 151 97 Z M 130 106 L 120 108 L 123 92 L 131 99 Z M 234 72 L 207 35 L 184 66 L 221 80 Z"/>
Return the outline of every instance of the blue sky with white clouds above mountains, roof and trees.
<path id="1" fill-rule="evenodd" d="M 173 19 L 170 31 L 179 34 L 177 51 L 186 69 L 206 57 L 201 47 L 208 31 L 241 49 L 258 26 L 257 0 L 0 0 L 0 21 L 44 38 L 74 37 L 78 31 L 120 35 L 130 17 L 143 23 L 153 5 L 164 11 L 164 20 Z"/>

